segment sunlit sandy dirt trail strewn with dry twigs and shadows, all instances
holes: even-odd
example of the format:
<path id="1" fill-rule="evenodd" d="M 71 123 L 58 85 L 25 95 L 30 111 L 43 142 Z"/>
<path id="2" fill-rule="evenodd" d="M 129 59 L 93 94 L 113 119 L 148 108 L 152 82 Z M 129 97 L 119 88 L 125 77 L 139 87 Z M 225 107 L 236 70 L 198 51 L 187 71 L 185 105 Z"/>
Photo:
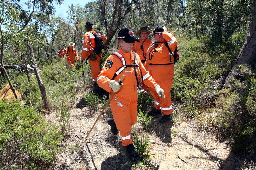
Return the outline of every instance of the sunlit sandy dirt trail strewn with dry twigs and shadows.
<path id="1" fill-rule="evenodd" d="M 63 149 L 53 169 L 132 168 L 122 147 L 121 136 L 113 136 L 106 122 L 110 110 L 102 115 L 90 136 L 85 139 L 100 111 L 95 112 L 89 106 L 72 110 L 70 137 L 63 142 Z M 152 156 L 154 169 L 234 169 L 242 165 L 225 143 L 218 141 L 211 133 L 199 131 L 197 122 L 179 116 L 177 123 L 169 121 L 159 124 L 160 117 L 153 116 L 150 125 L 153 132 L 149 153 L 155 153 Z M 48 120 L 56 122 L 54 114 L 48 115 Z M 141 131 L 138 124 L 136 128 Z"/>

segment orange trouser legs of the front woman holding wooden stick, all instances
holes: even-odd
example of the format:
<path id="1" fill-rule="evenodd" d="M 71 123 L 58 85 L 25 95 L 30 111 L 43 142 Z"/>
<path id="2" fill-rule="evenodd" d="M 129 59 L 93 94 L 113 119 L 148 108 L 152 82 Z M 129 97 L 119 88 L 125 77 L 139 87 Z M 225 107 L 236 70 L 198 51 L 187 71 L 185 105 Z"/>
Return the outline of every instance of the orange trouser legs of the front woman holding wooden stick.
<path id="1" fill-rule="evenodd" d="M 137 100 L 130 102 L 128 99 L 114 95 L 110 101 L 110 108 L 116 127 L 122 136 L 122 145 L 131 144 L 133 141 L 131 126 L 137 122 Z"/>

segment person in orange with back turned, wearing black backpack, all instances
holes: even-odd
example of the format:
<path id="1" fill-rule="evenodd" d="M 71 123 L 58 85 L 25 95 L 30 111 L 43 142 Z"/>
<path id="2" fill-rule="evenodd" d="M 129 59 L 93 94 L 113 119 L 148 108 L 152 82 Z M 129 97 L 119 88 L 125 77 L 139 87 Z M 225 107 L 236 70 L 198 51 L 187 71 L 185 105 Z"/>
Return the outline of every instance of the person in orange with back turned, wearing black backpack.
<path id="1" fill-rule="evenodd" d="M 83 60 L 86 59 L 86 61 L 89 59 L 89 63 L 91 65 L 91 76 L 92 81 L 94 82 L 94 93 L 99 89 L 97 82 L 97 77 L 101 72 L 100 64 L 102 59 L 102 51 L 96 49 L 96 43 L 95 42 L 95 36 L 97 36 L 96 31 L 93 30 L 93 23 L 92 21 L 88 20 L 85 23 L 86 33 L 83 36 L 83 47 L 81 52 L 81 64 L 83 63 Z M 102 39 L 103 43 L 106 43 L 106 37 L 104 35 L 100 35 L 100 38 Z M 87 62 L 86 62 L 87 64 Z"/>

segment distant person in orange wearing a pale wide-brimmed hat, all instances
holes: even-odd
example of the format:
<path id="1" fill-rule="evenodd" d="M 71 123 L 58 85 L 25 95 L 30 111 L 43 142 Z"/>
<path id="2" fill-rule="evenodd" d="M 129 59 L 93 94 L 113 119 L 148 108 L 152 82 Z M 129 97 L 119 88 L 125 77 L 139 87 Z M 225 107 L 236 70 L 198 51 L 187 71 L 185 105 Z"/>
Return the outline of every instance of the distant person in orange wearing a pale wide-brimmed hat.
<path id="1" fill-rule="evenodd" d="M 72 41 L 68 43 L 69 47 L 66 48 L 66 50 L 64 51 L 64 55 L 67 54 L 67 63 L 70 67 L 75 67 L 74 63 L 75 63 L 75 57 L 76 60 L 79 61 L 79 56 L 78 53 L 76 52 L 76 49 L 74 48 L 75 43 L 73 43 Z"/>

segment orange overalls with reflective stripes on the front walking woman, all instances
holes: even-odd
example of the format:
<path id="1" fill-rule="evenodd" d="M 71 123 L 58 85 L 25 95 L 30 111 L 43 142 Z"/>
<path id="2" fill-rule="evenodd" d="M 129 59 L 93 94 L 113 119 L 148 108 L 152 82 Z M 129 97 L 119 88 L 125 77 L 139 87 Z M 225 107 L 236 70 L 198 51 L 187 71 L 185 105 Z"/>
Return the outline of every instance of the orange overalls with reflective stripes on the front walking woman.
<path id="1" fill-rule="evenodd" d="M 122 58 L 123 56 L 123 58 Z M 136 73 L 139 79 L 142 78 L 144 83 L 150 88 L 155 88 L 157 85 L 153 78 L 146 71 L 140 57 L 136 54 Z M 122 75 L 125 75 L 122 88 L 115 93 L 113 98 L 110 100 L 110 107 L 116 127 L 120 130 L 122 136 L 122 145 L 127 146 L 132 143 L 133 138 L 131 137 L 131 126 L 137 121 L 137 86 L 136 78 L 133 67 L 124 67 L 124 65 L 132 65 L 134 63 L 134 56 L 132 51 L 125 53 L 121 48 L 112 55 L 110 55 L 98 76 L 98 85 L 113 93 L 112 89 L 108 86 L 111 79 L 118 81 Z M 142 76 L 141 76 L 142 74 Z M 114 78 L 113 78 L 114 77 Z"/>

